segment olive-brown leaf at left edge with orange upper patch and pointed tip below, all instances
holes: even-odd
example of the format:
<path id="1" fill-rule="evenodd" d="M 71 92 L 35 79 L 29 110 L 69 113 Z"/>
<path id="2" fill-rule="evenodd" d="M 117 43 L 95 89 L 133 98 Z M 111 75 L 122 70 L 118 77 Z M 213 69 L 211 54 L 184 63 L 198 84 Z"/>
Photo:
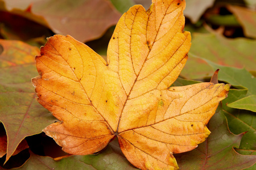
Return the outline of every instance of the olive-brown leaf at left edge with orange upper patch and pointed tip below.
<path id="1" fill-rule="evenodd" d="M 24 42 L 0 40 L 0 121 L 7 134 L 6 161 L 25 137 L 40 133 L 54 120 L 38 104 L 31 86 L 37 54 L 38 48 Z"/>

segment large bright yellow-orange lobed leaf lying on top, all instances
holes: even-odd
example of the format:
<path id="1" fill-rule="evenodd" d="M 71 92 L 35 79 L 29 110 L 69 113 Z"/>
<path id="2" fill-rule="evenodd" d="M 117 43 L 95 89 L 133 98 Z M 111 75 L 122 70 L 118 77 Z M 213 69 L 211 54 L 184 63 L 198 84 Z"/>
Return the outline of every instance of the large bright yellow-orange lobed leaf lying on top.
<path id="1" fill-rule="evenodd" d="M 118 137 L 141 169 L 177 169 L 172 154 L 208 137 L 205 126 L 229 85 L 170 87 L 187 61 L 185 1 L 130 8 L 108 46 L 108 61 L 71 36 L 50 37 L 36 57 L 38 101 L 60 120 L 43 131 L 69 154 L 93 154 Z"/>

